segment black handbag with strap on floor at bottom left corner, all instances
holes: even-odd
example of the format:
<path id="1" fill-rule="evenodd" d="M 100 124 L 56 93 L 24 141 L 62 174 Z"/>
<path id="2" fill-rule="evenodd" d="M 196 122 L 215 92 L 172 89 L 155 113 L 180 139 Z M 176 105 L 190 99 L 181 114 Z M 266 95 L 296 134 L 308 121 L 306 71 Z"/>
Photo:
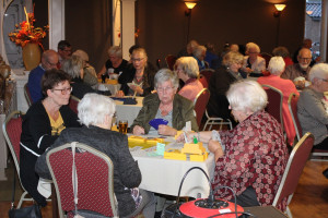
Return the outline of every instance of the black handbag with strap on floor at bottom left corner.
<path id="1" fill-rule="evenodd" d="M 16 183 L 16 178 L 15 178 L 15 173 L 14 173 L 11 208 L 8 213 L 9 218 L 42 218 L 43 216 L 42 216 L 39 206 L 36 204 L 33 204 L 32 206 L 28 206 L 28 207 L 21 207 L 19 209 L 15 208 L 15 205 L 14 205 L 15 183 Z"/>

